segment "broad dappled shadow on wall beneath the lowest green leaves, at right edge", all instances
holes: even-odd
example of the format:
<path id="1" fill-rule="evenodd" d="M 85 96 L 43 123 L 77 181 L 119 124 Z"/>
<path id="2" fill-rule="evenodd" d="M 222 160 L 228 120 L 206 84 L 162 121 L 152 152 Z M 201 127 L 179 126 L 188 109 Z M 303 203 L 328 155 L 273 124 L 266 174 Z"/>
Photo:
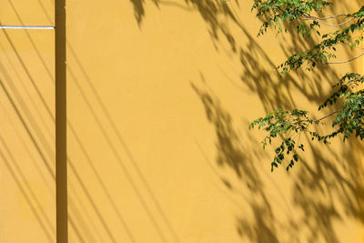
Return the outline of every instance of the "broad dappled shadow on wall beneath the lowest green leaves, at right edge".
<path id="1" fill-rule="evenodd" d="M 321 147 L 309 146 L 315 160 L 303 159 L 292 189 L 294 203 L 306 216 L 299 225 L 309 229 L 308 242 L 341 242 L 335 222 L 345 218 L 364 222 L 362 145 L 351 140 L 340 152 L 328 147 L 339 157 L 333 160 L 324 156 Z"/>

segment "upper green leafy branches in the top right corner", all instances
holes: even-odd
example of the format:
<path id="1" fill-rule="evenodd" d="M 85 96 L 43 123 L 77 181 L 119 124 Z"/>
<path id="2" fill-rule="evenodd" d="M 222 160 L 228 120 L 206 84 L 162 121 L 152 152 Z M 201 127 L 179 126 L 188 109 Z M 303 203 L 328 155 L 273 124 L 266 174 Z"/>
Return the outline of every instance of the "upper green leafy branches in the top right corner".
<path id="1" fill-rule="evenodd" d="M 258 16 L 268 18 L 261 25 L 258 35 L 266 33 L 270 25 L 274 25 L 277 34 L 281 33 L 283 29 L 287 32 L 283 25 L 287 22 L 289 25 L 295 23 L 298 33 L 305 37 L 309 36 L 312 30 L 321 35 L 319 18 L 311 14 L 312 12 L 322 12 L 322 9 L 328 5 L 332 5 L 332 3 L 320 0 L 256 0 L 252 10 L 257 10 Z M 352 18 L 356 22 L 342 30 L 322 35 L 322 41 L 319 44 L 308 51 L 290 56 L 288 60 L 277 67 L 280 69 L 280 73 L 284 75 L 289 70 L 297 70 L 304 64 L 306 64 L 306 70 L 310 71 L 312 67 L 318 64 L 328 64 L 329 59 L 336 58 L 336 46 L 341 44 L 351 48 L 359 46 L 363 42 L 362 35 L 352 37 L 352 34 L 359 33 L 364 29 L 364 6 L 355 13 L 345 15 L 345 18 Z"/>

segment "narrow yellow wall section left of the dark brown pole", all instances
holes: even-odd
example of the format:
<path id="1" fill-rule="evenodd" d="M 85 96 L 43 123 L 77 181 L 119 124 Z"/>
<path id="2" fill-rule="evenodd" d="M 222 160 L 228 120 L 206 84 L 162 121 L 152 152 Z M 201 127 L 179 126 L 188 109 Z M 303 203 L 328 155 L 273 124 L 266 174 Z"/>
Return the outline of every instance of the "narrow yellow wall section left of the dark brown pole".
<path id="1" fill-rule="evenodd" d="M 0 3 L 1 25 L 53 25 L 53 13 L 50 1 Z M 54 39 L 0 30 L 0 242 L 56 241 Z"/>

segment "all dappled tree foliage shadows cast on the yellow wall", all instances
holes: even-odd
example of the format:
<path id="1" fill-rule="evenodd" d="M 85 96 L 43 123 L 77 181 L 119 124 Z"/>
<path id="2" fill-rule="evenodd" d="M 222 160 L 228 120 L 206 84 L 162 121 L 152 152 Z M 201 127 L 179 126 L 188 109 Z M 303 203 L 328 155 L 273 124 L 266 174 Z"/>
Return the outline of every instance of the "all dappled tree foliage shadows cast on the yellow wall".
<path id="1" fill-rule="evenodd" d="M 146 15 L 144 1 L 130 1 L 135 6 L 136 19 L 140 26 Z M 159 6 L 166 5 L 165 1 L 154 1 L 154 3 Z M 335 66 L 320 66 L 309 75 L 298 71 L 297 74 L 280 76 L 275 70 L 277 65 L 266 51 L 268 46 L 261 46 L 256 38 L 249 34 L 248 29 L 238 20 L 238 15 L 235 15 L 234 10 L 227 4 L 211 0 L 186 0 L 185 3 L 196 10 L 207 23 L 207 31 L 217 51 L 219 42 L 222 42 L 220 38 L 222 35 L 231 48 L 229 52 L 240 58 L 239 73 L 233 77 L 227 76 L 227 79 L 238 83 L 245 92 L 257 94 L 267 112 L 278 107 L 296 108 L 299 104 L 296 103 L 292 90 L 304 96 L 311 104 L 319 106 L 323 102 L 323 93 L 329 94 L 331 91 L 328 86 L 336 83 L 343 75 Z M 238 5 L 238 1 L 235 3 Z M 227 27 L 227 22 L 235 24 L 240 30 L 240 35 L 243 34 L 248 42 L 238 44 L 236 34 Z M 291 31 L 288 36 L 289 39 L 281 41 L 280 45 L 280 51 L 286 56 L 307 49 L 315 43 L 313 37 L 306 38 L 304 42 L 300 41 L 296 31 Z M 349 56 L 349 53 L 344 54 Z M 350 63 L 347 70 L 352 70 L 354 67 L 354 64 Z M 226 81 L 221 80 L 221 82 Z M 267 184 L 264 182 L 266 176 L 261 172 L 261 167 L 269 167 L 267 157 L 263 156 L 260 147 L 251 150 L 245 142 L 258 143 L 258 141 L 248 131 L 241 136 L 238 135 L 232 117 L 211 90 L 197 87 L 195 83 L 192 87 L 205 107 L 207 120 L 215 129 L 217 165 L 231 168 L 246 189 L 244 194 L 247 196 L 244 200 L 248 203 L 253 219 L 237 217 L 237 230 L 241 238 L 257 243 L 335 243 L 340 240 L 335 224 L 338 222 L 344 224 L 344 220 L 348 218 L 364 223 L 362 183 L 364 170 L 359 166 L 360 157 L 363 156 L 360 152 L 363 151 L 363 146 L 359 141 L 352 139 L 348 144 L 340 145 L 339 149 L 306 143 L 308 146 L 306 153 L 315 159 L 301 158 L 298 166 L 294 168 L 295 176 L 288 176 L 290 197 L 288 206 L 283 207 L 287 211 L 284 216 L 286 220 L 282 221 L 279 219 L 281 216 L 278 217 L 273 209 Z M 243 114 L 244 108 L 241 116 Z M 271 177 L 274 178 L 275 175 Z M 232 185 L 232 182 L 225 178 L 222 182 L 228 190 L 242 194 L 241 190 L 236 189 L 241 185 Z M 279 186 L 277 190 L 279 192 Z"/>

